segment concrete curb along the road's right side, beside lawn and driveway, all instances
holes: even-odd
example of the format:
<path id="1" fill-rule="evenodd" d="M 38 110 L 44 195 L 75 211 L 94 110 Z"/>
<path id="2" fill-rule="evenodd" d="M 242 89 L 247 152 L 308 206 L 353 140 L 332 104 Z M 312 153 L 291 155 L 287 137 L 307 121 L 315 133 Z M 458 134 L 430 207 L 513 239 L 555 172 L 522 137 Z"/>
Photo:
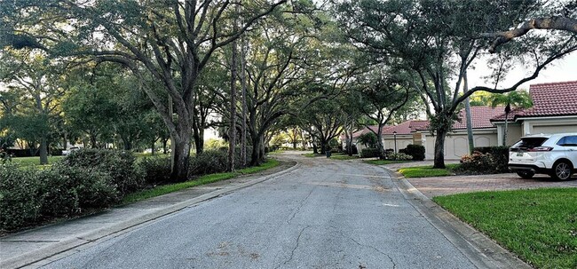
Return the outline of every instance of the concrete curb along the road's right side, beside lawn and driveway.
<path id="1" fill-rule="evenodd" d="M 394 175 L 393 178 L 396 180 L 393 180 L 393 183 L 397 185 L 401 194 L 407 198 L 415 210 L 418 210 L 478 268 L 533 268 L 509 250 L 503 249 L 484 233 L 478 232 L 437 203 L 432 202 L 403 175 L 384 169 Z"/>

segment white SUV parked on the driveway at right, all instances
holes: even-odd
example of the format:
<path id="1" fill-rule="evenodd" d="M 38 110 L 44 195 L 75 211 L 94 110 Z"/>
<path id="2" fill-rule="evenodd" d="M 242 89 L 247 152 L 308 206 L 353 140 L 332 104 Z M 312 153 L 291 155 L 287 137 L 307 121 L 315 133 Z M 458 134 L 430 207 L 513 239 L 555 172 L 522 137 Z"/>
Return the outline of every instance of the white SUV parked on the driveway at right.
<path id="1" fill-rule="evenodd" d="M 532 135 L 521 138 L 509 149 L 509 170 L 521 178 L 535 173 L 566 180 L 577 171 L 577 133 Z"/>

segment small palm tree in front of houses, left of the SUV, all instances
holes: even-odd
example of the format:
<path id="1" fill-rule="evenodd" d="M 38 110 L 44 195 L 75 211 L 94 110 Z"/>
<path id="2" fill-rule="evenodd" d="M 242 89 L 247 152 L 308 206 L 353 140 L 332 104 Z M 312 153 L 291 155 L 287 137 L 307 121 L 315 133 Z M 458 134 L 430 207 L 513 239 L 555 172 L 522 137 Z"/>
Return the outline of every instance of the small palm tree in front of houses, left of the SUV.
<path id="1" fill-rule="evenodd" d="M 533 107 L 533 100 L 529 91 L 510 91 L 507 93 L 494 93 L 486 98 L 486 102 L 491 107 L 498 107 L 505 105 L 505 131 L 503 132 L 502 146 L 507 143 L 507 124 L 509 123 L 509 114 L 511 107 L 515 108 L 529 108 Z"/>

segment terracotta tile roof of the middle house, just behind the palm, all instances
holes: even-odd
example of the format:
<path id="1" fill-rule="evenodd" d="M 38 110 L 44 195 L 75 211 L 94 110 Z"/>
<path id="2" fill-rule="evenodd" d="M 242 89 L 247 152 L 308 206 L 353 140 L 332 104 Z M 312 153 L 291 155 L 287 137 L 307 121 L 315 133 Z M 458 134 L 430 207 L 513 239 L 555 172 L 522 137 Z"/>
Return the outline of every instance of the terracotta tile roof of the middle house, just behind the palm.
<path id="1" fill-rule="evenodd" d="M 473 129 L 492 128 L 491 119 L 495 116 L 502 115 L 505 107 L 470 107 L 471 123 Z M 453 123 L 453 130 L 467 129 L 467 120 L 465 117 L 465 109 L 459 111 L 459 119 Z M 422 124 L 416 128 L 418 131 L 429 130 L 429 124 Z"/>

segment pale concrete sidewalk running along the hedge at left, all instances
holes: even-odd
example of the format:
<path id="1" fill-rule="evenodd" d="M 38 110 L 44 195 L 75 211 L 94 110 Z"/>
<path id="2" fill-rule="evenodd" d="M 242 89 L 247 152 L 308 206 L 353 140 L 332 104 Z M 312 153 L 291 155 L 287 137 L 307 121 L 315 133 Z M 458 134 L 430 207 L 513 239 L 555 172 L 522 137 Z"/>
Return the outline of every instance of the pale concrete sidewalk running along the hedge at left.
<path id="1" fill-rule="evenodd" d="M 282 162 L 280 166 L 257 174 L 188 188 L 99 214 L 6 235 L 0 238 L 0 268 L 20 268 L 41 260 L 50 262 L 50 257 L 69 249 L 121 233 L 198 202 L 279 177 L 297 167 L 294 162 Z"/>

